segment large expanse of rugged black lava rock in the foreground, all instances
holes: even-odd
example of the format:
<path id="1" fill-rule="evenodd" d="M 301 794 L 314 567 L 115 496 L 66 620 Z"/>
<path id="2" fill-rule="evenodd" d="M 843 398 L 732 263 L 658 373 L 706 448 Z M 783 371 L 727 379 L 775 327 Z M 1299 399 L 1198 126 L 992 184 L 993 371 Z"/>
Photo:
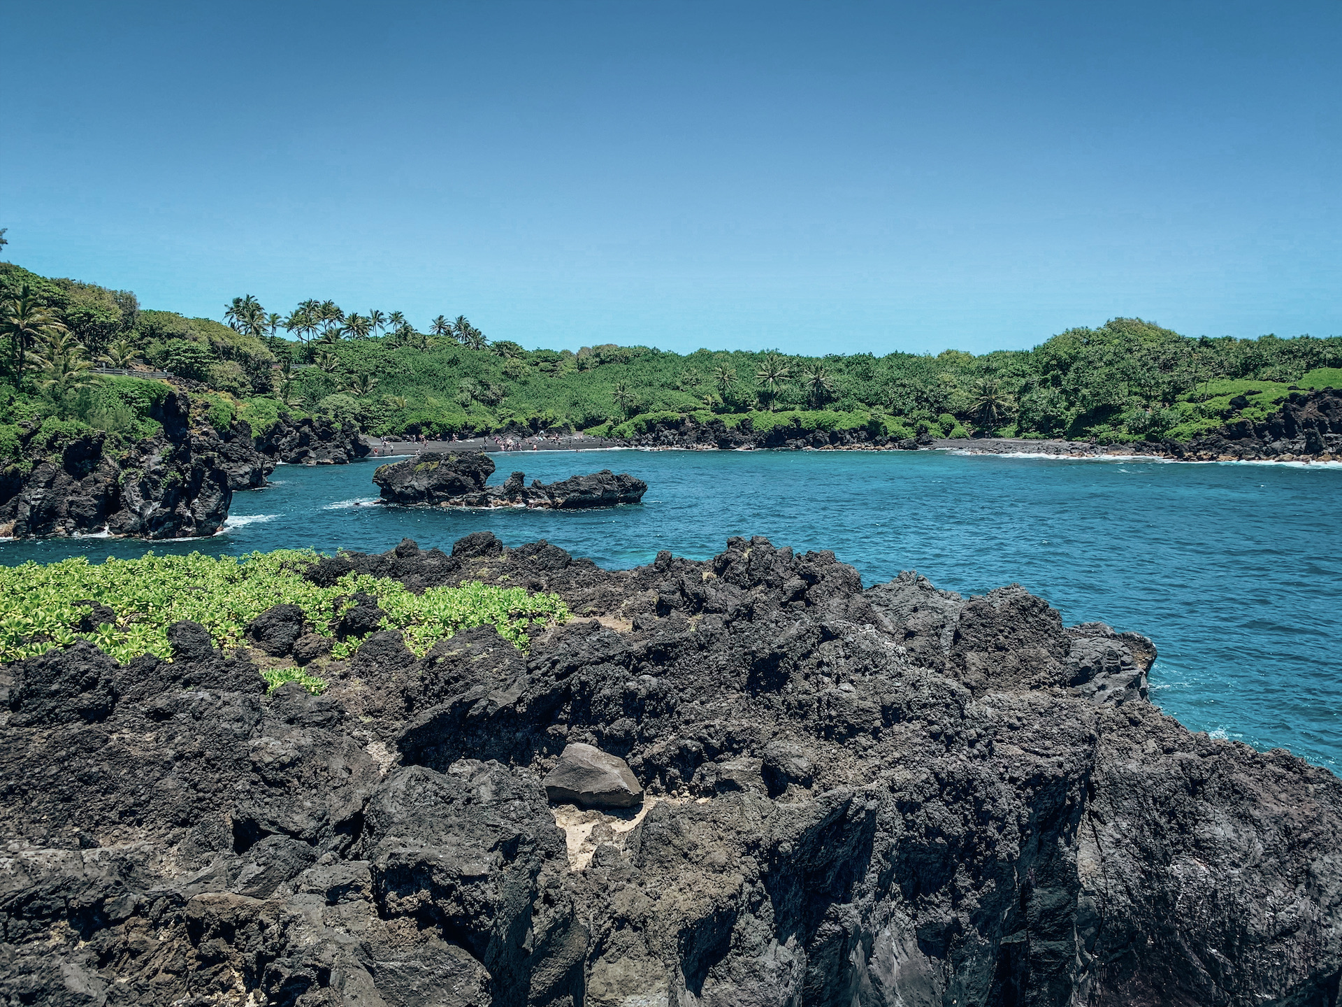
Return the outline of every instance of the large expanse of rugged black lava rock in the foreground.
<path id="1" fill-rule="evenodd" d="M 577 618 L 352 623 L 321 697 L 193 623 L 7 667 L 0 1002 L 1337 1003 L 1342 781 L 1162 716 L 1143 636 L 764 538 L 349 571 Z M 319 663 L 285 608 L 252 639 Z"/>

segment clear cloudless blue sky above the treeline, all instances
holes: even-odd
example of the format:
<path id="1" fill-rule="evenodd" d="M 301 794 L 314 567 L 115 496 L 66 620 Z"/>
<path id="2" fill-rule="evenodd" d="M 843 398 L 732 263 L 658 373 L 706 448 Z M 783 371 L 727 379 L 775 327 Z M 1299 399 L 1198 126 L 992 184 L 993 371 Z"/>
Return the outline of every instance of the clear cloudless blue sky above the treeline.
<path id="1" fill-rule="evenodd" d="M 0 3 L 0 227 L 220 317 L 976 353 L 1342 333 L 1342 4 Z"/>

